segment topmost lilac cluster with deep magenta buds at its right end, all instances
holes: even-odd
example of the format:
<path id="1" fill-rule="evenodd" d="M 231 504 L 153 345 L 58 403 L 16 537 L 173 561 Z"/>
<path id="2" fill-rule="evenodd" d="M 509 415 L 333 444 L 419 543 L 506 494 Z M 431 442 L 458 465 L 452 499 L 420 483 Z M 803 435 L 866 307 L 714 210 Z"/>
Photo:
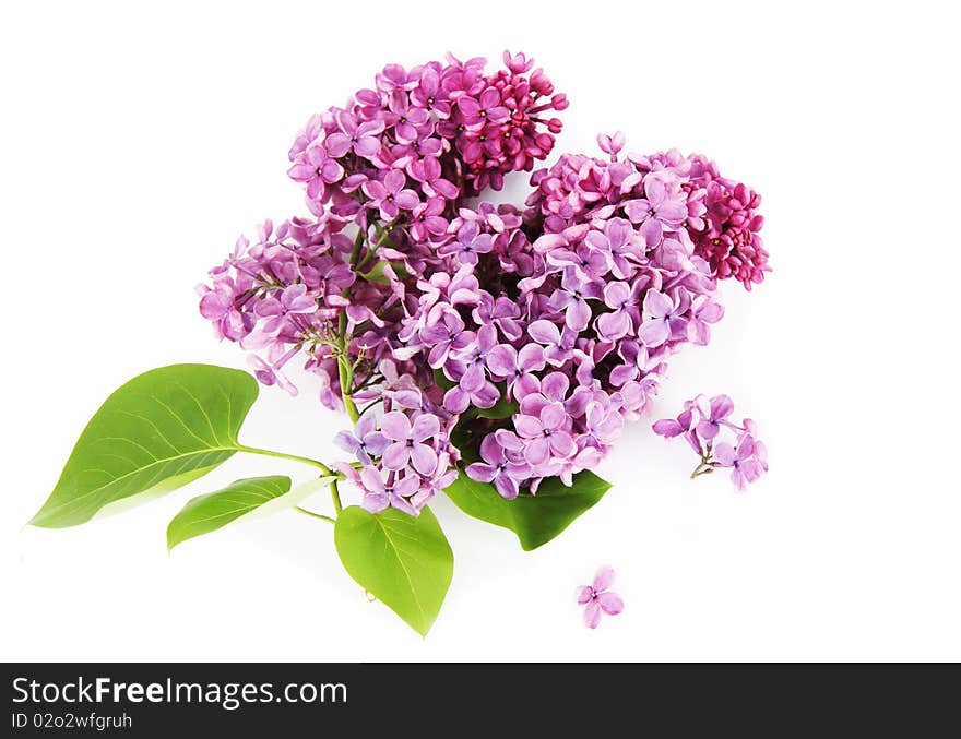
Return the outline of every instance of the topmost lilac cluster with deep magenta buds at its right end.
<path id="1" fill-rule="evenodd" d="M 479 58 L 389 64 L 347 107 L 313 116 L 290 148 L 288 172 L 306 186 L 313 213 L 354 220 L 376 210 L 390 222 L 404 212 L 423 224 L 417 238 L 429 240 L 446 233 L 447 203 L 531 170 L 560 131 L 544 116 L 568 103 L 542 70 L 531 72 L 533 59 L 505 52 L 503 61 L 493 75 Z"/>

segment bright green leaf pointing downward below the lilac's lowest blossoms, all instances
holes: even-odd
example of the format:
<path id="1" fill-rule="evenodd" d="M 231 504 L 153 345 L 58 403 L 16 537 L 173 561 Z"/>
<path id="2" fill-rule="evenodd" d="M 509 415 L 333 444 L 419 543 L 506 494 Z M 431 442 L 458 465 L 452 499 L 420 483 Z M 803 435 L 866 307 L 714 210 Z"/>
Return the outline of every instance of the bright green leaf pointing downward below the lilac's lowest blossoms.
<path id="1" fill-rule="evenodd" d="M 337 555 L 357 583 L 426 636 L 450 585 L 454 556 L 440 524 L 387 509 L 378 514 L 345 508 L 334 526 Z"/>

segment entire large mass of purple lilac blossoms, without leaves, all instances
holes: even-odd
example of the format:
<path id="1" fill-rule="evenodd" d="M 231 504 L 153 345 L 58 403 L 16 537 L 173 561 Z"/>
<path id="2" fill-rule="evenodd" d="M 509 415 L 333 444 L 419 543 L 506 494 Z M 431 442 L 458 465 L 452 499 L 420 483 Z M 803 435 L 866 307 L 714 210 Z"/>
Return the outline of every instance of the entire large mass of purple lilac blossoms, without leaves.
<path id="1" fill-rule="evenodd" d="M 200 287 L 264 384 L 296 393 L 306 357 L 371 511 L 416 514 L 459 464 L 506 498 L 570 485 L 708 343 L 719 279 L 769 269 L 754 191 L 700 156 L 621 156 L 621 134 L 535 171 L 524 211 L 468 201 L 545 158 L 567 107 L 503 61 L 388 65 L 313 116 L 289 152 L 311 217 L 268 222 Z"/>

